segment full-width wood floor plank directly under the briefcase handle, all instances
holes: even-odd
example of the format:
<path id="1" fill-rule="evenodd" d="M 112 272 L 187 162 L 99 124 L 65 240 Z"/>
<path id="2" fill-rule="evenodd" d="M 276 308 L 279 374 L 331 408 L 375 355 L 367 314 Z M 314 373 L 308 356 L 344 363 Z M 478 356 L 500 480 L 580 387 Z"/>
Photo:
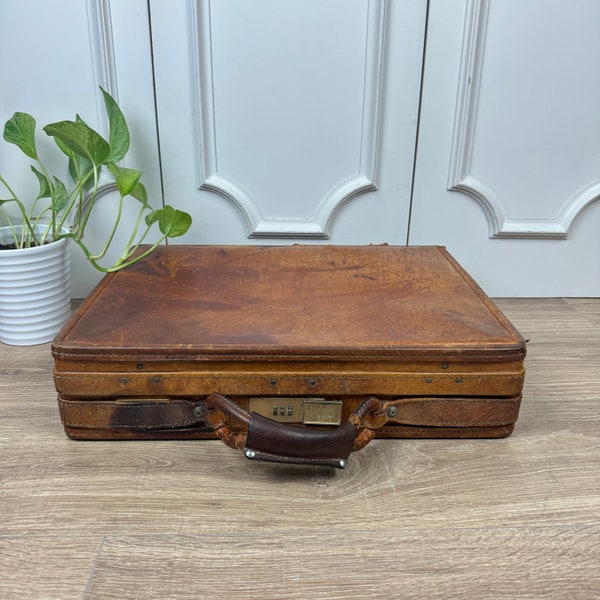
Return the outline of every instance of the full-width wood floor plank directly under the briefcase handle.
<path id="1" fill-rule="evenodd" d="M 365 518 L 374 506 L 413 528 L 590 522 L 600 514 L 600 451 L 597 430 L 578 429 L 380 440 L 344 472 L 250 463 L 218 442 L 15 444 L 4 460 L 2 532 L 226 533 L 285 529 L 290 515 L 297 529 L 368 530 L 378 527 Z"/>

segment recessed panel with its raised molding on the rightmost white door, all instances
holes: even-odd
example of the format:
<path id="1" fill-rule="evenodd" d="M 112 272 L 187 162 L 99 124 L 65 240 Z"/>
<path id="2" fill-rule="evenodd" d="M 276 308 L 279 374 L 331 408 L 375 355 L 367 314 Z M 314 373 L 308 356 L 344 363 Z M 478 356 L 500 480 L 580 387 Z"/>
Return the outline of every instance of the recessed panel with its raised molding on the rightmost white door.
<path id="1" fill-rule="evenodd" d="M 588 76 L 600 8 L 533 3 L 515 19 L 520 8 L 470 3 L 450 189 L 482 204 L 492 236 L 564 238 L 600 193 L 600 80 Z"/>

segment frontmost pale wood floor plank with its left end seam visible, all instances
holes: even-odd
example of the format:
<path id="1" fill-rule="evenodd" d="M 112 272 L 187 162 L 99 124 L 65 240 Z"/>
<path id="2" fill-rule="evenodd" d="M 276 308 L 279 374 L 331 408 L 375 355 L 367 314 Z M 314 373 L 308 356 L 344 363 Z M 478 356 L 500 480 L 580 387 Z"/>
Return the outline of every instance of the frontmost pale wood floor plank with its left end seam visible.
<path id="1" fill-rule="evenodd" d="M 117 536 L 86 598 L 592 598 L 599 542 L 598 526 Z"/>

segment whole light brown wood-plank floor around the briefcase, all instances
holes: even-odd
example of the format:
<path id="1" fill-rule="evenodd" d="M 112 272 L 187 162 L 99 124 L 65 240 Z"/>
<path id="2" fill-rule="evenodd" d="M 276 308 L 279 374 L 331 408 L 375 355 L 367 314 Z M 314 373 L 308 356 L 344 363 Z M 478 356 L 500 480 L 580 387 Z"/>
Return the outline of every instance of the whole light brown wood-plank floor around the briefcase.
<path id="1" fill-rule="evenodd" d="M 49 347 L 0 344 L 0 598 L 600 598 L 600 299 L 498 304 L 531 338 L 515 433 L 335 472 L 71 441 Z"/>

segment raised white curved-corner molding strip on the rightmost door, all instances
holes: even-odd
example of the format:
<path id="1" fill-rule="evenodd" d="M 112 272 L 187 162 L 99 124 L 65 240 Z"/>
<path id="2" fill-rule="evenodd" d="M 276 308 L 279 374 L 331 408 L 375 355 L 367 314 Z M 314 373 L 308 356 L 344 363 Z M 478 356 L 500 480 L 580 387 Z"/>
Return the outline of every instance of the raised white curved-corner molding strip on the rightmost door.
<path id="1" fill-rule="evenodd" d="M 448 189 L 463 192 L 480 204 L 492 238 L 564 239 L 577 215 L 600 197 L 600 179 L 566 199 L 553 218 L 517 219 L 509 217 L 502 197 L 493 186 L 472 171 L 490 2 L 468 0 L 467 3 Z"/>

